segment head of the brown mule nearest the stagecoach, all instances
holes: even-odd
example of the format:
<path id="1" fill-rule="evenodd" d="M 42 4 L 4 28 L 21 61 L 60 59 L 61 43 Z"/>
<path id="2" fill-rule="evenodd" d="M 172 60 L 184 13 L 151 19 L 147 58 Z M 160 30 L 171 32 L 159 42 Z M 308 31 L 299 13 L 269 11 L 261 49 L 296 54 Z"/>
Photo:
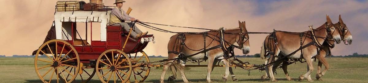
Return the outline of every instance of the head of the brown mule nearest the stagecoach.
<path id="1" fill-rule="evenodd" d="M 240 45 L 241 50 L 243 50 L 243 54 L 248 54 L 250 51 L 249 45 L 249 35 L 247 28 L 245 28 L 245 21 L 239 21 L 239 28 L 241 32 L 239 33 L 239 39 L 237 40 L 237 44 Z"/>

